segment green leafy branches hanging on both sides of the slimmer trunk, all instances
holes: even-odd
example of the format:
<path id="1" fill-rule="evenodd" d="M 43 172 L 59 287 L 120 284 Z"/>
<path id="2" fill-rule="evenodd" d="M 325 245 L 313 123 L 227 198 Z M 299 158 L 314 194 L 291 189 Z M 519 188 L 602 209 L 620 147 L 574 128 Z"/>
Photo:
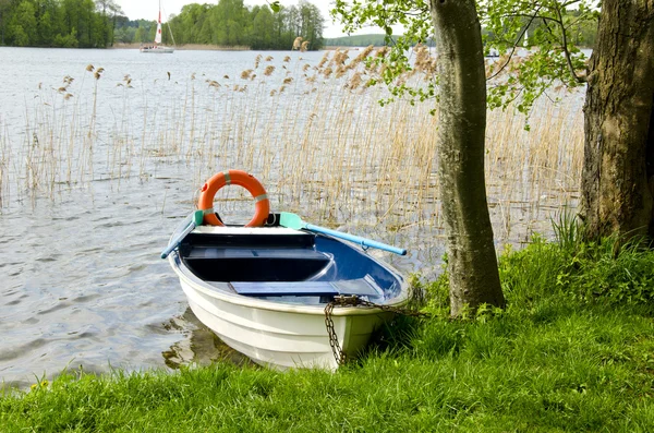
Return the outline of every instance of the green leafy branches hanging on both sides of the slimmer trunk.
<path id="1" fill-rule="evenodd" d="M 514 103 L 520 112 L 528 115 L 536 98 L 549 88 L 573 88 L 585 81 L 579 72 L 585 58 L 578 45 L 585 45 L 584 37 L 594 37 L 591 28 L 596 26 L 598 16 L 596 0 L 477 0 L 477 11 L 484 28 L 485 55 L 498 55 L 487 65 L 489 108 L 507 108 Z M 428 2 L 337 0 L 331 13 L 342 21 L 348 33 L 367 26 L 386 32 L 391 53 L 377 61 L 387 65 L 384 83 L 396 98 L 417 101 L 437 97 L 433 85 L 413 87 L 396 81 L 413 68 L 405 55 L 410 48 L 433 36 Z M 392 26 L 402 26 L 404 34 L 391 39 Z"/>

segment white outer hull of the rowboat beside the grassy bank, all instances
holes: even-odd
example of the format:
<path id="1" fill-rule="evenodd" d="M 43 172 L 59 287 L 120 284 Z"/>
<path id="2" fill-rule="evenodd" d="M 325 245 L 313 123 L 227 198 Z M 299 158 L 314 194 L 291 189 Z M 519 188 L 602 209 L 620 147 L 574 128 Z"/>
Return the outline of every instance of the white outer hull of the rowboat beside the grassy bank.
<path id="1" fill-rule="evenodd" d="M 338 369 L 325 325 L 324 305 L 293 305 L 244 297 L 230 300 L 178 269 L 193 313 L 234 350 L 276 370 Z M 335 308 L 334 328 L 342 351 L 348 357 L 356 356 L 373 332 L 391 315 L 378 309 Z"/>

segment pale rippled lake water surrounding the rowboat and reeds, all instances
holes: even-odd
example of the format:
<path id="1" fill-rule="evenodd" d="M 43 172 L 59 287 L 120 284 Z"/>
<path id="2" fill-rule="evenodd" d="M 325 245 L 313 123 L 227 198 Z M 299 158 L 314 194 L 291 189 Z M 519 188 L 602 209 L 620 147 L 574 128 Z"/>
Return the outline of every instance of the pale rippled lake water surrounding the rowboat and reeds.
<path id="1" fill-rule="evenodd" d="M 4 384 L 28 386 L 65 368 L 238 358 L 195 321 L 159 258 L 218 170 L 255 173 L 276 211 L 408 248 L 408 257 L 374 252 L 405 273 L 439 273 L 428 107 L 383 109 L 384 91 L 317 76 L 323 56 L 0 47 Z M 99 80 L 88 65 L 104 69 Z M 574 122 L 561 120 L 559 134 Z M 521 168 L 489 185 L 498 246 L 549 230 L 564 204 L 574 206 L 559 153 L 547 164 L 560 177 L 536 182 Z M 240 191 L 219 199 L 229 222 L 250 219 Z"/>

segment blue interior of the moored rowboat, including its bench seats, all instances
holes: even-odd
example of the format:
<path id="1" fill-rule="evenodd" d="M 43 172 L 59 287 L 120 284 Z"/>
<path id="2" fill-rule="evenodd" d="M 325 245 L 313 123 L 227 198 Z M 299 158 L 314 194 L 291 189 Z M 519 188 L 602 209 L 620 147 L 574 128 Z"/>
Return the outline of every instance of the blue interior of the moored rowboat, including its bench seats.
<path id="1" fill-rule="evenodd" d="M 229 282 L 249 297 L 317 297 L 327 302 L 338 294 L 358 294 L 383 302 L 401 292 L 401 277 L 366 253 L 308 231 L 192 232 L 179 251 L 199 279 Z"/>

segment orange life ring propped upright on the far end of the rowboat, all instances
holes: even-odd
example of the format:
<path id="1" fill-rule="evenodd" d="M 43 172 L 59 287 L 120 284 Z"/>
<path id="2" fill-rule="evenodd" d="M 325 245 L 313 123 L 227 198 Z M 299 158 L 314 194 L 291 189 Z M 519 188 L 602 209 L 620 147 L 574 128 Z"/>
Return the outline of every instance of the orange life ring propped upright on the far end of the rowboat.
<path id="1" fill-rule="evenodd" d="M 211 226 L 225 226 L 214 213 L 214 197 L 218 190 L 225 185 L 239 185 L 246 189 L 255 201 L 254 217 L 245 227 L 261 227 L 268 219 L 270 213 L 270 202 L 262 183 L 252 175 L 243 170 L 221 171 L 211 176 L 211 178 L 202 187 L 197 208 L 204 211 L 204 222 Z"/>

